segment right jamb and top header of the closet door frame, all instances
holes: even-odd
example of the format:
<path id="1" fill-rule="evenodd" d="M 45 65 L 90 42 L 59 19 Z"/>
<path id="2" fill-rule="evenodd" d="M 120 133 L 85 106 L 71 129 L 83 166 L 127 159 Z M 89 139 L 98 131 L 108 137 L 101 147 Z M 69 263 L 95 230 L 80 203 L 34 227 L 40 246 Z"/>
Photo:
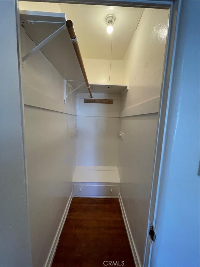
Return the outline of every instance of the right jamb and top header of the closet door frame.
<path id="1" fill-rule="evenodd" d="M 21 0 L 27 1 L 27 0 Z M 153 179 L 151 188 L 151 198 L 149 205 L 148 227 L 146 234 L 145 252 L 143 258 L 143 266 L 150 266 L 153 242 L 149 238 L 150 224 L 154 226 L 156 231 L 156 213 L 159 195 L 159 185 L 163 164 L 163 154 L 165 148 L 165 136 L 167 133 L 167 119 L 169 113 L 169 99 L 171 93 L 172 73 L 174 65 L 174 56 L 176 49 L 176 39 L 178 31 L 178 20 L 180 14 L 180 7 L 182 0 L 31 0 L 32 2 L 50 2 L 50 3 L 70 3 L 70 4 L 89 4 L 89 5 L 112 5 L 136 8 L 162 8 L 169 9 L 168 19 L 168 35 L 165 47 L 163 78 L 161 85 L 160 104 L 158 112 L 157 137 L 155 146 L 155 157 L 153 167 Z M 16 5 L 16 12 L 19 18 L 18 0 Z M 18 19 L 17 32 L 19 34 L 20 22 Z M 20 38 L 18 38 L 18 45 L 21 48 Z M 21 62 L 21 59 L 19 59 Z M 23 99 L 22 99 L 23 101 Z M 24 117 L 24 113 L 23 113 Z"/>

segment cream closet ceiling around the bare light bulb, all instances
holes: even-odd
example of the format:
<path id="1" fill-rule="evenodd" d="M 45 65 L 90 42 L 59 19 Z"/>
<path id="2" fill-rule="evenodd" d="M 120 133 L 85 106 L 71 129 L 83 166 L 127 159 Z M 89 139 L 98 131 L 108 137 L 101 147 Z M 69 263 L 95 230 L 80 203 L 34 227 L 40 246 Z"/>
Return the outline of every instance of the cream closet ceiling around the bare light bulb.
<path id="1" fill-rule="evenodd" d="M 59 4 L 73 21 L 83 58 L 123 60 L 144 8 Z M 113 34 L 107 33 L 105 17 L 114 14 Z"/>

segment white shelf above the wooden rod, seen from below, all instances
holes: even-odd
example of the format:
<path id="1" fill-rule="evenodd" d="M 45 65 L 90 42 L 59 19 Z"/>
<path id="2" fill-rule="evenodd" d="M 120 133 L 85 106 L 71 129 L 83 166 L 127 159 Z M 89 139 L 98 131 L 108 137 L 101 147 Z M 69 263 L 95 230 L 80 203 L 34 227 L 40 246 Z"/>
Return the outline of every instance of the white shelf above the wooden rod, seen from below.
<path id="1" fill-rule="evenodd" d="M 66 18 L 65 13 L 20 10 L 20 21 L 27 35 L 38 45 L 62 27 Z M 67 27 L 40 50 L 64 79 L 84 80 Z"/>

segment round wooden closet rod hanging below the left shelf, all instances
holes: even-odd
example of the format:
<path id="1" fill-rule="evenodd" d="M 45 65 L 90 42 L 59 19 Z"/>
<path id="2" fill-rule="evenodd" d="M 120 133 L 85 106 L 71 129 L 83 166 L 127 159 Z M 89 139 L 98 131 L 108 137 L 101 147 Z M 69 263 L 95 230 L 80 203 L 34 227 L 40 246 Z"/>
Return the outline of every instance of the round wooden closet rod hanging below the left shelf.
<path id="1" fill-rule="evenodd" d="M 90 85 L 89 85 L 89 82 L 88 82 L 88 77 L 87 77 L 87 74 L 85 72 L 85 67 L 84 67 L 84 64 L 83 64 L 83 59 L 82 59 L 82 56 L 81 56 L 81 52 L 80 52 L 80 49 L 79 49 L 79 46 L 78 46 L 77 37 L 76 37 L 75 31 L 74 31 L 73 22 L 71 20 L 67 20 L 66 21 L 66 26 L 67 26 L 67 29 L 68 29 L 69 37 L 70 37 L 70 39 L 72 40 L 72 43 L 73 43 L 73 47 L 74 47 L 75 53 L 77 55 L 79 65 L 81 67 L 81 70 L 82 70 L 82 73 L 83 73 L 83 77 L 85 79 L 85 83 L 86 83 L 86 85 L 88 87 L 88 91 L 89 91 L 90 97 L 93 98 L 92 92 L 90 90 Z"/>

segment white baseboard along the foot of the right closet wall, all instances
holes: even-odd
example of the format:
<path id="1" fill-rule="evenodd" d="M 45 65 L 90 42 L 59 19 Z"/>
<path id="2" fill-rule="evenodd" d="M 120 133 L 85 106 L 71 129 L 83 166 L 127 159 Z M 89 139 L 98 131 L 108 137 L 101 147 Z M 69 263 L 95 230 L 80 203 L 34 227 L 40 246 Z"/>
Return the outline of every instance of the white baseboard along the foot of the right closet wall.
<path id="1" fill-rule="evenodd" d="M 136 246 L 135 246 L 135 242 L 134 242 L 133 236 L 131 234 L 130 226 L 129 226 L 129 223 L 128 223 L 128 219 L 127 219 L 127 216 L 126 216 L 126 212 L 125 212 L 125 209 L 124 209 L 124 206 L 123 206 L 123 202 L 122 202 L 122 198 L 121 198 L 120 193 L 119 193 L 119 203 L 120 203 L 120 207 L 121 207 L 121 210 L 122 210 L 122 216 L 123 216 L 123 220 L 124 220 L 124 223 L 125 223 L 129 244 L 130 244 L 131 251 L 132 251 L 132 254 L 133 254 L 133 259 L 135 261 L 135 266 L 136 267 L 141 267 L 142 264 L 140 262 L 140 259 L 139 259 L 139 256 L 138 256 L 138 252 L 137 252 L 137 249 L 136 249 Z"/>

